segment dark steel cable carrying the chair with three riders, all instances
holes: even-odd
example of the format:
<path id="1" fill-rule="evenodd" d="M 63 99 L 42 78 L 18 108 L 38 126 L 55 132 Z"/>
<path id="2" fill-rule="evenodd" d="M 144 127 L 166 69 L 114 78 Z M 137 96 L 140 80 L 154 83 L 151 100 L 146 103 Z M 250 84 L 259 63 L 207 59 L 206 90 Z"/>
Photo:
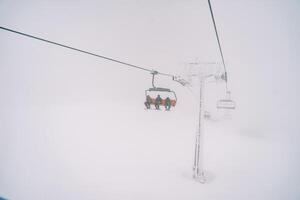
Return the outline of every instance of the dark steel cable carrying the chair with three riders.
<path id="1" fill-rule="evenodd" d="M 56 45 L 56 46 L 71 49 L 71 50 L 74 50 L 74 51 L 78 51 L 80 53 L 85 53 L 85 54 L 88 54 L 88 55 L 91 55 L 91 56 L 95 56 L 95 57 L 102 58 L 102 59 L 105 59 L 105 60 L 109 60 L 109 61 L 112 61 L 112 62 L 115 62 L 115 63 L 126 65 L 127 67 L 132 67 L 132 68 L 135 68 L 135 69 L 140 69 L 140 70 L 144 70 L 144 71 L 148 71 L 148 72 L 155 71 L 155 70 L 152 70 L 152 69 L 149 69 L 149 68 L 140 67 L 140 66 L 133 65 L 133 64 L 130 64 L 130 63 L 122 62 L 122 61 L 117 60 L 117 59 L 109 58 L 109 57 L 102 56 L 102 55 L 99 55 L 99 54 L 95 54 L 95 53 L 92 53 L 92 52 L 89 52 L 89 51 L 85 51 L 85 50 L 81 50 L 81 49 L 74 48 L 74 47 L 71 47 L 71 46 L 67 46 L 67 45 L 64 45 L 64 44 L 60 44 L 60 43 L 57 43 L 57 42 L 53 42 L 53 41 L 50 41 L 50 40 L 47 40 L 47 39 L 43 39 L 43 38 L 36 37 L 36 36 L 33 36 L 33 35 L 29 35 L 27 33 L 19 32 L 19 31 L 15 31 L 15 30 L 5 28 L 5 27 L 2 27 L 2 26 L 0 26 L 0 29 L 8 31 L 8 32 L 16 33 L 16 34 L 19 34 L 19 35 L 22 35 L 22 36 L 25 36 L 25 37 L 29 37 L 31 39 L 40 40 L 40 41 L 50 43 L 50 44 L 53 44 L 53 45 Z M 156 72 L 160 75 L 163 75 L 163 76 L 174 77 L 174 75 L 172 75 L 172 74 L 161 73 L 161 72 L 158 72 L 158 71 L 156 71 Z"/>

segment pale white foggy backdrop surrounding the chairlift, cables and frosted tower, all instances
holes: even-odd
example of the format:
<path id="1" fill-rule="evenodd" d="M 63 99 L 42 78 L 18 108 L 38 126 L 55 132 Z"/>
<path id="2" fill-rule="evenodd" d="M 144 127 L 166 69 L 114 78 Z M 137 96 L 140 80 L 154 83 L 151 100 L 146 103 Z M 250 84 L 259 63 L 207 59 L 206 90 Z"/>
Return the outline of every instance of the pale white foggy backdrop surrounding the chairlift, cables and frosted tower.
<path id="1" fill-rule="evenodd" d="M 178 106 L 146 112 L 149 74 L 1 30 L 0 196 L 299 199 L 300 2 L 212 5 L 238 106 L 205 124 L 207 184 L 191 178 L 196 92 L 161 77 Z M 0 0 L 0 25 L 174 74 L 220 61 L 204 0 Z"/>

